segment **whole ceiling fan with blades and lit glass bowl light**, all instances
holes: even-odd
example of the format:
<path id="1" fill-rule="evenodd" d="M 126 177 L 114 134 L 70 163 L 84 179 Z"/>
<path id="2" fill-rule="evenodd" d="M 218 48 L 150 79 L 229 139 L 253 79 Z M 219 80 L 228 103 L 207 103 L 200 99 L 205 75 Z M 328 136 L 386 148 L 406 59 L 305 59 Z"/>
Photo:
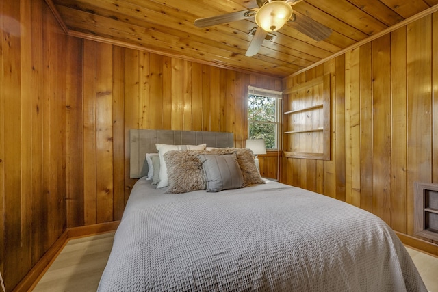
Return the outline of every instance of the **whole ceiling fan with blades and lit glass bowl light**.
<path id="1" fill-rule="evenodd" d="M 251 40 L 246 56 L 251 57 L 259 52 L 263 40 L 268 32 L 277 31 L 287 23 L 292 21 L 295 29 L 302 34 L 320 41 L 326 39 L 331 34 L 331 29 L 313 21 L 313 19 L 300 14 L 296 21 L 296 15 L 293 13 L 292 6 L 303 0 L 257 0 L 259 8 L 231 12 L 228 14 L 198 18 L 194 21 L 197 27 L 209 27 L 211 25 L 220 25 L 222 23 L 231 23 L 232 21 L 241 21 L 243 19 L 255 18 L 257 31 Z"/>

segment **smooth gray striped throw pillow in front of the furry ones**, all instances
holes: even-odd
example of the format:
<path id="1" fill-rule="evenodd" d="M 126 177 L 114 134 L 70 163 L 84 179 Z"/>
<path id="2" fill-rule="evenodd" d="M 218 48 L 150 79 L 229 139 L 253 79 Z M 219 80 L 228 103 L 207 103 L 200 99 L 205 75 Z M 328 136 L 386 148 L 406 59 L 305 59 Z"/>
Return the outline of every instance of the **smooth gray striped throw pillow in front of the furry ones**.
<path id="1" fill-rule="evenodd" d="M 224 155 L 198 155 L 203 163 L 207 191 L 238 189 L 244 186 L 244 178 L 235 153 Z"/>

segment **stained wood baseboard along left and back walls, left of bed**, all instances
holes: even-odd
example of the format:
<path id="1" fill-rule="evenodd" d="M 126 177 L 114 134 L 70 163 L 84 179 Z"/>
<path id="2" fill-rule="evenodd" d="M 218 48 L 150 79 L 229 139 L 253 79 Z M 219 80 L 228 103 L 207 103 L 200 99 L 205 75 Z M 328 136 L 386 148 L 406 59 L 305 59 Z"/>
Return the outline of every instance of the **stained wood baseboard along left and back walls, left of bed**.
<path id="1" fill-rule="evenodd" d="M 62 235 L 51 245 L 49 250 L 40 258 L 40 260 L 30 269 L 25 278 L 23 278 L 12 292 L 31 291 L 35 288 L 42 275 L 49 269 L 55 258 L 60 254 L 68 240 L 85 237 L 88 235 L 96 235 L 99 233 L 107 233 L 117 229 L 120 221 L 106 222 L 100 224 L 92 224 L 88 226 L 79 226 L 68 228 Z"/>

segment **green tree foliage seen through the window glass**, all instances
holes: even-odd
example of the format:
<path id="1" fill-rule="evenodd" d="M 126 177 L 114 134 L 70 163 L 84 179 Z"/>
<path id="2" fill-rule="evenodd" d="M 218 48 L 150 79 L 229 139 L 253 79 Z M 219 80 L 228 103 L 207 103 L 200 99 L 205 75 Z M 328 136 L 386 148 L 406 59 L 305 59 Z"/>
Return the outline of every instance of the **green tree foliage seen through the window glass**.
<path id="1" fill-rule="evenodd" d="M 266 149 L 276 149 L 277 99 L 248 96 L 248 127 L 250 139 L 264 139 Z"/>

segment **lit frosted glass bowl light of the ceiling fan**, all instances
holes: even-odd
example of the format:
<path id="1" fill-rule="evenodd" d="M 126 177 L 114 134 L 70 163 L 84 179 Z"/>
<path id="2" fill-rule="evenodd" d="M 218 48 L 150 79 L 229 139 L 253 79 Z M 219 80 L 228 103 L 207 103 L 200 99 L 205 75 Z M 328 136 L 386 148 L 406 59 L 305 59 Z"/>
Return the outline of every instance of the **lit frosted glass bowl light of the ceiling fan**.
<path id="1" fill-rule="evenodd" d="M 264 31 L 277 31 L 289 21 L 292 6 L 285 1 L 271 1 L 261 6 L 255 14 L 255 23 Z"/>

